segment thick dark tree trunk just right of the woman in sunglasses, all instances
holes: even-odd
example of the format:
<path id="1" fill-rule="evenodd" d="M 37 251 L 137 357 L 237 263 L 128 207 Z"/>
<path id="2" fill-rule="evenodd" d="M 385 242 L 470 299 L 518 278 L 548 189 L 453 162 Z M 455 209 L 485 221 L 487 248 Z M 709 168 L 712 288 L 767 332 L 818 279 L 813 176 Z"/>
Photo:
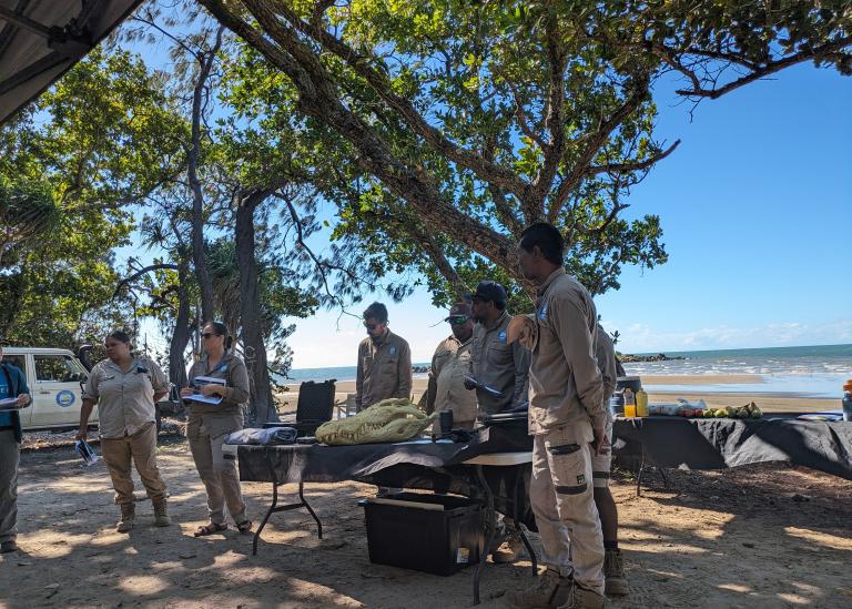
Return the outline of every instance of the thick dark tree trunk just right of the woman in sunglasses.
<path id="1" fill-rule="evenodd" d="M 263 316 L 257 293 L 257 262 L 254 258 L 254 210 L 262 195 L 244 199 L 236 207 L 236 265 L 240 270 L 240 317 L 243 348 L 252 389 L 251 408 L 255 423 L 278 420 L 272 399 L 266 345 L 263 341 Z"/>

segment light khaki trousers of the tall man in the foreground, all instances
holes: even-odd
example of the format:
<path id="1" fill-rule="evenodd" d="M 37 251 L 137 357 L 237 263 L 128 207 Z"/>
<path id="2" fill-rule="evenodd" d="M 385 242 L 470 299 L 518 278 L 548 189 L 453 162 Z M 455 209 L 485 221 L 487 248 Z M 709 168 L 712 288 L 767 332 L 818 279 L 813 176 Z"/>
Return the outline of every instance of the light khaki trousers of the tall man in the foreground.
<path id="1" fill-rule="evenodd" d="M 529 500 L 545 562 L 604 595 L 604 535 L 591 486 L 591 451 L 574 426 L 537 434 Z"/>

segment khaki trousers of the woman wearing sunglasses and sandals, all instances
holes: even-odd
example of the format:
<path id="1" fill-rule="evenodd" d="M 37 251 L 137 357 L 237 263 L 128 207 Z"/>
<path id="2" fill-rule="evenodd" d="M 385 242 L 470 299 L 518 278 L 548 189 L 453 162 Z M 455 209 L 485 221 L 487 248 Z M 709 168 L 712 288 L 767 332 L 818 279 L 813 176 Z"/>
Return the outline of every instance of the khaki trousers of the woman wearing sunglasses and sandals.
<path id="1" fill-rule="evenodd" d="M 245 503 L 240 489 L 240 476 L 233 459 L 225 459 L 222 446 L 227 434 L 210 437 L 201 426 L 197 435 L 189 436 L 190 450 L 195 460 L 201 481 L 207 490 L 210 521 L 221 525 L 225 521 L 225 505 L 237 525 L 246 520 Z"/>

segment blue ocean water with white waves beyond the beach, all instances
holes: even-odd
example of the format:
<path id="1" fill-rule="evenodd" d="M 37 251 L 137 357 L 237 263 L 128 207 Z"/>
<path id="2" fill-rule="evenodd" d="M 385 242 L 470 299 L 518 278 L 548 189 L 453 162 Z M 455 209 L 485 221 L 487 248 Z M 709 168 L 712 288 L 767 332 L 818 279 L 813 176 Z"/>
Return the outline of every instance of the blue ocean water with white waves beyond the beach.
<path id="1" fill-rule="evenodd" d="M 627 374 L 638 376 L 753 374 L 763 380 L 736 384 L 659 384 L 646 387 L 658 392 L 799 394 L 840 398 L 843 383 L 852 378 L 852 345 L 666 352 L 666 355 L 683 356 L 686 359 L 625 364 L 625 369 Z M 428 363 L 414 365 L 428 366 Z M 355 380 L 355 366 L 296 368 L 290 371 L 288 377 L 282 380 L 294 384 L 328 378 Z M 415 374 L 415 377 L 418 376 L 425 375 Z"/>

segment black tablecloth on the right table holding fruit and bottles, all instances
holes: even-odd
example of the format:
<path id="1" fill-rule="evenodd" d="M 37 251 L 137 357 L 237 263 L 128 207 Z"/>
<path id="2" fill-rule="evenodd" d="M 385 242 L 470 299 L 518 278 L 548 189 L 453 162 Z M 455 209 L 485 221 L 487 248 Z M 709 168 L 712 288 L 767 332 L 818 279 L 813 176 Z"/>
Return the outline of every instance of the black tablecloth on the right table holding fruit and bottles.
<path id="1" fill-rule="evenodd" d="M 852 423 L 791 418 L 616 419 L 613 435 L 626 441 L 616 457 L 636 454 L 661 467 L 723 469 L 764 461 L 788 461 L 852 479 Z"/>

